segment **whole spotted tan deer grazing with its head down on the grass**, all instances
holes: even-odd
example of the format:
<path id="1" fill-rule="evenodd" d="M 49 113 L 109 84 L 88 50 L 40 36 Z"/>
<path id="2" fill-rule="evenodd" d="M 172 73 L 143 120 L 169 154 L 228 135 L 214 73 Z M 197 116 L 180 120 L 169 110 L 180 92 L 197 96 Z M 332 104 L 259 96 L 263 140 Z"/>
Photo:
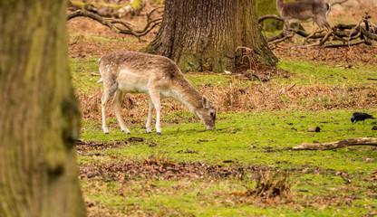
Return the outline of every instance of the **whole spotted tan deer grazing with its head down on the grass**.
<path id="1" fill-rule="evenodd" d="M 121 99 L 125 93 L 147 93 L 150 96 L 147 133 L 151 132 L 151 115 L 153 108 L 156 108 L 156 133 L 161 134 L 160 99 L 168 97 L 178 100 L 191 113 L 197 114 L 207 129 L 215 128 L 215 106 L 194 89 L 169 58 L 143 52 L 111 52 L 102 56 L 99 65 L 102 78 L 98 82 L 103 81 L 102 129 L 105 134 L 109 133 L 105 109 L 112 96 L 121 130 L 130 134 L 121 117 Z"/>

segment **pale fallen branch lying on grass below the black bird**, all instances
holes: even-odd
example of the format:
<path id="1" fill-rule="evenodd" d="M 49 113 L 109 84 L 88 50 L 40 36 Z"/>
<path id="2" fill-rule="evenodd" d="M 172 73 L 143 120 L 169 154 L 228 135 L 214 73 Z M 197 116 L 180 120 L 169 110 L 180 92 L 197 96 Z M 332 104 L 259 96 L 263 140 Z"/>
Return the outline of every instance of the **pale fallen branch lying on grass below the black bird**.
<path id="1" fill-rule="evenodd" d="M 377 138 L 353 137 L 330 143 L 303 143 L 292 147 L 293 150 L 330 150 L 346 146 L 377 146 Z"/>

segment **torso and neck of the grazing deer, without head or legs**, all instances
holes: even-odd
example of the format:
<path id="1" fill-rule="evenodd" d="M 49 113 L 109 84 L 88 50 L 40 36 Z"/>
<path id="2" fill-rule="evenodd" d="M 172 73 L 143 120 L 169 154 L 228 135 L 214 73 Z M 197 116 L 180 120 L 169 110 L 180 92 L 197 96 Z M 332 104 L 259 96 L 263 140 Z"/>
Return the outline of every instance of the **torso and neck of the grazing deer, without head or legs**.
<path id="1" fill-rule="evenodd" d="M 162 97 L 179 97 L 189 101 L 201 99 L 174 61 L 144 52 L 111 52 L 100 59 L 105 86 L 114 83 L 130 93 L 159 90 Z M 175 94 L 172 96 L 171 94 Z M 195 103 L 197 104 L 197 103 Z"/>

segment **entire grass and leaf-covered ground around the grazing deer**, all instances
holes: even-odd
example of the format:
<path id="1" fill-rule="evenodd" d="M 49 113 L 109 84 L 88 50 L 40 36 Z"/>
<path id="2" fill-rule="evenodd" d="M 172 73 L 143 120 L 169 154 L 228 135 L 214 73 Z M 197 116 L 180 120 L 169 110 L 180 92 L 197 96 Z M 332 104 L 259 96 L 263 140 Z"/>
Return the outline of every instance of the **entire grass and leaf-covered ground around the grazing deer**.
<path id="1" fill-rule="evenodd" d="M 259 78 L 247 67 L 231 75 L 190 72 L 188 79 L 218 108 L 215 132 L 165 99 L 163 135 L 144 134 L 147 98 L 132 95 L 122 110 L 131 136 L 119 132 L 111 109 L 113 132 L 103 136 L 96 61 L 112 51 L 138 51 L 156 30 L 139 42 L 85 18 L 67 26 L 82 109 L 76 150 L 90 216 L 377 214 L 376 147 L 290 149 L 307 140 L 377 137 L 375 121 L 349 121 L 355 110 L 377 115 L 376 43 L 336 49 L 282 43 L 273 50 L 279 67 L 258 66 Z M 324 131 L 306 132 L 313 126 Z"/>

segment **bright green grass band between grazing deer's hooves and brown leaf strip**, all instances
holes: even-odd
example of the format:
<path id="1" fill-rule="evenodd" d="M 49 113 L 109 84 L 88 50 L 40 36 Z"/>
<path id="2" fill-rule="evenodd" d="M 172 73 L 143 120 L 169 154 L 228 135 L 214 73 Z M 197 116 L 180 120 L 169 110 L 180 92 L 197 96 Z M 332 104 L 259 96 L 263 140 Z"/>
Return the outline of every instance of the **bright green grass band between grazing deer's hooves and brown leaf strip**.
<path id="1" fill-rule="evenodd" d="M 157 144 L 153 147 L 126 146 L 116 150 L 118 155 L 127 158 L 163 156 L 168 153 L 169 159 L 173 161 L 221 164 L 225 160 L 235 160 L 244 165 L 275 165 L 276 161 L 281 161 L 286 162 L 286 165 L 283 164 L 285 168 L 305 165 L 348 172 L 371 171 L 374 164 L 365 164 L 364 158 L 375 158 L 377 153 L 368 147 L 362 152 L 347 149 L 315 152 L 284 150 L 286 147 L 297 146 L 303 142 L 329 142 L 349 137 L 377 137 L 377 132 L 372 130 L 372 123 L 376 123 L 375 121 L 367 120 L 365 124 L 352 124 L 349 119 L 351 115 L 352 111 L 348 110 L 222 113 L 218 115 L 220 119 L 216 130 L 205 130 L 197 119 L 193 123 L 165 125 L 161 136 L 146 134 L 145 129 L 140 126 L 130 127 L 131 135 L 128 136 L 121 132 L 116 121 L 114 121 L 115 126 L 110 128 L 111 134 L 104 135 L 99 123 L 93 125 L 90 122 L 84 122 L 85 129 L 82 131 L 82 138 L 93 141 L 111 141 L 124 140 L 128 137 L 143 137 L 146 143 Z M 307 128 L 317 126 L 321 127 L 321 132 L 307 132 Z M 179 153 L 179 150 L 188 148 L 198 151 L 198 154 Z M 267 152 L 270 149 L 275 151 Z M 338 152 L 342 154 L 334 155 Z M 310 158 L 307 158 L 308 156 Z M 331 159 L 328 160 L 328 164 L 322 162 L 326 157 Z M 344 162 L 343 157 L 354 161 Z M 361 170 L 358 168 L 359 165 L 362 165 Z"/>

